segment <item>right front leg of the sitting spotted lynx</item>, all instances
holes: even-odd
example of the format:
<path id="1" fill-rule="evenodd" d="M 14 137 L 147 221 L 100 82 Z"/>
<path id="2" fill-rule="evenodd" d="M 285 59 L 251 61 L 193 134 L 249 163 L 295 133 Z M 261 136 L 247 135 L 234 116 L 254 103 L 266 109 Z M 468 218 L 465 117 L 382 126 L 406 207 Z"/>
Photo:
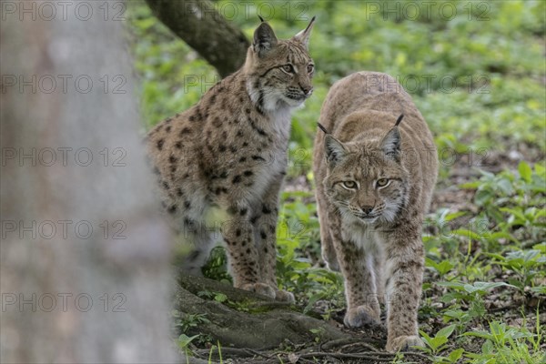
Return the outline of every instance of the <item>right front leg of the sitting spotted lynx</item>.
<path id="1" fill-rule="evenodd" d="M 261 205 L 254 211 L 254 232 L 261 280 L 275 288 L 276 299 L 294 302 L 294 295 L 290 292 L 277 289 L 277 219 L 278 219 L 278 191 L 282 179 L 279 177 L 271 183 Z"/>

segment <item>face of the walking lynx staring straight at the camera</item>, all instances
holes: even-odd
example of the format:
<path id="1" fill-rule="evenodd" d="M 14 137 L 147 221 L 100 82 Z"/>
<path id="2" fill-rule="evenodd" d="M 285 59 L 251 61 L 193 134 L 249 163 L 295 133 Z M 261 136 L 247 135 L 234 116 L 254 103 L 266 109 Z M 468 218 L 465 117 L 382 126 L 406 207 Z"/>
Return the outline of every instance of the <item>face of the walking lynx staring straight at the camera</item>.
<path id="1" fill-rule="evenodd" d="M 392 222 L 404 206 L 408 172 L 399 164 L 398 151 L 389 150 L 395 147 L 393 137 L 399 142 L 399 136 L 388 135 L 381 146 L 367 147 L 327 136 L 326 194 L 343 215 L 365 224 Z"/>

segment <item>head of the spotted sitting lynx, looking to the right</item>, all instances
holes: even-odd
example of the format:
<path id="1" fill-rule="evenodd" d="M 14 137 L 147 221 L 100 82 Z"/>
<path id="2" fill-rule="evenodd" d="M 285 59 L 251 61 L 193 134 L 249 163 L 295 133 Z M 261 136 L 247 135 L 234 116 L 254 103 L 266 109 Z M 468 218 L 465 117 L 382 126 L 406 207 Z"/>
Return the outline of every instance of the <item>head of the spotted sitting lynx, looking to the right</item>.
<path id="1" fill-rule="evenodd" d="M 278 40 L 267 23 L 256 30 L 246 67 L 250 97 L 262 110 L 298 107 L 313 93 L 315 65 L 308 54 L 312 25 L 288 40 Z"/>

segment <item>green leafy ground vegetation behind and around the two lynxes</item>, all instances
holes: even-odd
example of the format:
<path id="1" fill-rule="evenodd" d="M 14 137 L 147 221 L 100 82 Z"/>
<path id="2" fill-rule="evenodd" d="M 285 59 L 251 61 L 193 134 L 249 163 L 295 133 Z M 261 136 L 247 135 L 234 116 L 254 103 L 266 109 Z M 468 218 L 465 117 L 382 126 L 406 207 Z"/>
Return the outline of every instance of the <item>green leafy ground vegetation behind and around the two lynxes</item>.
<path id="1" fill-rule="evenodd" d="M 256 10 L 271 4 L 253 3 L 247 14 L 239 6 L 231 19 L 249 38 Z M 388 11 L 410 3 L 298 2 L 287 19 L 288 8 L 278 2 L 275 15 L 262 13 L 285 38 L 318 17 L 310 41 L 315 93 L 293 117 L 288 168 L 288 180 L 307 187 L 282 195 L 279 286 L 308 309 L 327 302 L 325 318 L 344 308 L 342 278 L 318 265 L 319 222 L 309 192 L 313 138 L 329 86 L 359 70 L 386 72 L 408 89 L 430 125 L 442 162 L 439 188 L 467 191 L 471 199 L 427 217 L 420 307 L 425 352 L 438 363 L 544 362 L 546 3 L 436 1 L 430 16 L 422 3 L 419 16 L 407 7 L 410 18 Z M 440 8 L 456 15 L 441 16 Z M 144 131 L 195 104 L 217 74 L 144 3 L 129 2 L 127 15 Z M 510 153 L 519 157 L 507 159 Z M 472 159 L 461 164 L 451 157 Z M 463 169 L 464 177 L 456 177 Z M 207 275 L 228 280 L 225 260 L 216 249 Z M 192 339 L 183 337 L 180 346 Z"/>

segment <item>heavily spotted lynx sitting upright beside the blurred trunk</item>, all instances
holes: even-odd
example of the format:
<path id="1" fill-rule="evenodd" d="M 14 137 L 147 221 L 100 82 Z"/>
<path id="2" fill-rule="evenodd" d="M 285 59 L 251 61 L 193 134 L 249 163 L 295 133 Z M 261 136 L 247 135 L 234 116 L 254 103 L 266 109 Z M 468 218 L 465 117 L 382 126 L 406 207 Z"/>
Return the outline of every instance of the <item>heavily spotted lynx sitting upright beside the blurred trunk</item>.
<path id="1" fill-rule="evenodd" d="M 241 69 L 148 134 L 167 212 L 195 248 L 183 271 L 200 274 L 219 230 L 235 287 L 294 299 L 275 277 L 278 193 L 290 113 L 313 91 L 313 22 L 278 40 L 262 21 Z"/>

